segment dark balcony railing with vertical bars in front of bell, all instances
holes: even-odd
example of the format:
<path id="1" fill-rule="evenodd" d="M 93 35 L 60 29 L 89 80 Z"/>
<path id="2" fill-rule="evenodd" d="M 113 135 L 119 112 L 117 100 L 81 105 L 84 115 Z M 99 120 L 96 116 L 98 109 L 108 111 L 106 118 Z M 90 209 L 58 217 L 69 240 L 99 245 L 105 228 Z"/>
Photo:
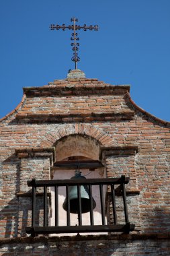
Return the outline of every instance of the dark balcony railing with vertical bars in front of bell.
<path id="1" fill-rule="evenodd" d="M 134 230 L 134 224 L 130 224 L 128 220 L 128 209 L 126 204 L 126 191 L 125 184 L 129 182 L 129 178 L 109 178 L 109 179 L 76 179 L 76 180 L 50 180 L 50 181 L 28 181 L 28 187 L 32 187 L 32 226 L 26 227 L 26 232 L 36 236 L 37 234 L 58 234 L 58 233 L 79 233 L 79 232 L 130 232 Z M 94 224 L 93 216 L 93 195 L 92 187 L 99 187 L 100 209 L 101 209 L 101 224 Z M 111 195 L 111 204 L 113 221 L 112 223 L 105 223 L 105 195 L 103 193 L 103 185 L 107 186 L 107 190 Z M 116 189 L 115 186 L 120 187 L 121 196 L 123 198 L 123 211 L 124 211 L 124 224 L 118 224 L 117 211 L 116 211 Z M 71 210 L 70 210 L 70 187 L 77 186 L 77 201 L 78 201 L 78 225 L 71 226 Z M 81 209 L 81 186 L 87 186 L 89 190 L 89 218 L 90 225 L 82 224 L 82 209 Z M 54 188 L 54 226 L 48 224 L 49 220 L 49 187 Z M 58 187 L 65 187 L 67 198 L 67 223 L 65 226 L 60 226 L 58 223 Z M 38 215 L 37 210 L 37 188 L 43 188 L 43 206 L 42 206 L 42 225 L 36 222 Z M 110 210 L 109 210 L 110 211 Z"/>

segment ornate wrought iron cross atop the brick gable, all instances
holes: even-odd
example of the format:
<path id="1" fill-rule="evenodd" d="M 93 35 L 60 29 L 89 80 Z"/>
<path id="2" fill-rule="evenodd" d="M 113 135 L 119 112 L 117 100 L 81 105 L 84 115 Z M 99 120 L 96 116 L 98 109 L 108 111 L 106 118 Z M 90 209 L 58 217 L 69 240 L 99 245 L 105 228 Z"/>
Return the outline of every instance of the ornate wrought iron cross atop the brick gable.
<path id="1" fill-rule="evenodd" d="M 97 31 L 99 29 L 99 27 L 97 25 L 95 26 L 86 26 L 86 24 L 84 24 L 84 26 L 78 26 L 75 24 L 75 22 L 78 22 L 78 19 L 77 18 L 71 18 L 71 22 L 73 22 L 73 25 L 69 25 L 69 26 L 65 26 L 65 24 L 62 24 L 62 26 L 59 26 L 59 25 L 54 25 L 54 24 L 51 24 L 50 26 L 50 29 L 51 30 L 59 30 L 60 28 L 65 31 L 67 28 L 69 30 L 73 30 L 73 33 L 71 34 L 72 37 L 71 37 L 71 40 L 73 40 L 74 42 L 71 43 L 71 46 L 73 46 L 72 50 L 74 51 L 73 53 L 73 57 L 72 57 L 72 61 L 75 62 L 75 69 L 77 69 L 77 62 L 80 61 L 80 58 L 78 56 L 78 53 L 77 51 L 79 50 L 79 42 L 77 42 L 79 40 L 79 37 L 77 37 L 77 30 L 81 30 L 83 29 L 84 31 L 86 30 L 95 30 Z"/>

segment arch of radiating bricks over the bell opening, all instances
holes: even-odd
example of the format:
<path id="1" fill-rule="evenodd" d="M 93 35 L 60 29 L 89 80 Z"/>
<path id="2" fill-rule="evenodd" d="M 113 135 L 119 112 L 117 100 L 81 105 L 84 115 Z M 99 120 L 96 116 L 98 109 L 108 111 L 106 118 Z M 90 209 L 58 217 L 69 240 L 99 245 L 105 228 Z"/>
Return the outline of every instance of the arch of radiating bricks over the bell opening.
<path id="1" fill-rule="evenodd" d="M 113 143 L 113 138 L 107 133 L 104 133 L 100 128 L 96 128 L 89 124 L 76 123 L 73 125 L 62 125 L 59 129 L 49 131 L 40 143 L 40 147 L 54 146 L 54 143 L 56 143 L 58 139 L 72 134 L 88 135 L 97 139 L 103 146 Z"/>

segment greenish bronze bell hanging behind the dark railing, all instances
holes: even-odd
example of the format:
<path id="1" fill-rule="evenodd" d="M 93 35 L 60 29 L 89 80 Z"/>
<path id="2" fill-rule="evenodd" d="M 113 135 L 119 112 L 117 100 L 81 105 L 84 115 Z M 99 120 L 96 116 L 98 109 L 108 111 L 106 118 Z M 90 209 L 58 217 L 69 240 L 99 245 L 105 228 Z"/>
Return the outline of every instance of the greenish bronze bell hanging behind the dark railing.
<path id="1" fill-rule="evenodd" d="M 71 179 L 86 179 L 84 176 L 81 176 L 81 172 L 75 172 L 75 176 Z M 72 214 L 78 214 L 79 212 L 79 200 L 77 193 L 77 186 L 69 187 L 69 197 L 70 197 L 70 212 Z M 96 206 L 95 200 L 93 201 L 93 209 Z M 67 198 L 65 199 L 62 207 L 65 211 L 67 211 Z M 90 212 L 90 199 L 89 199 L 89 189 L 87 185 L 81 186 L 81 212 L 85 214 L 85 212 Z"/>

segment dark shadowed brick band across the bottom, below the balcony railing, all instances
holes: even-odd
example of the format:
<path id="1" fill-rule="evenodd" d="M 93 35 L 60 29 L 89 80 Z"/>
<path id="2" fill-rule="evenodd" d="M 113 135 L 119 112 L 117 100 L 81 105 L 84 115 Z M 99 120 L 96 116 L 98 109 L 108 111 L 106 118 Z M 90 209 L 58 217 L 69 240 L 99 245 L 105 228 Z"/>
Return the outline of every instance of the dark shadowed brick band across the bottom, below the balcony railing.
<path id="1" fill-rule="evenodd" d="M 170 254 L 169 238 L 82 236 L 80 238 L 35 238 L 0 241 L 1 256 L 60 256 L 60 255 L 167 255 Z"/>

